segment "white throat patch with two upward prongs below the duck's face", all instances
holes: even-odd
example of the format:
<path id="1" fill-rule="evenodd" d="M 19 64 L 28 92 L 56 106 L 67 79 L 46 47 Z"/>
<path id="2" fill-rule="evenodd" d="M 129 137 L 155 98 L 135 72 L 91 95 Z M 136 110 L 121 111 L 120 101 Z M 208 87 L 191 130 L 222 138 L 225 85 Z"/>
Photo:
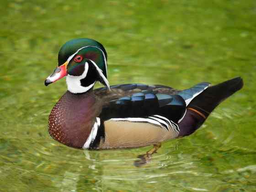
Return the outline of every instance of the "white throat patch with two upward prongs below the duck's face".
<path id="1" fill-rule="evenodd" d="M 95 81 L 94 83 L 92 83 L 91 85 L 89 85 L 87 87 L 84 87 L 81 85 L 80 80 L 82 80 L 86 77 L 88 68 L 89 68 L 89 65 L 86 62 L 85 63 L 85 71 L 82 75 L 80 75 L 80 76 L 67 75 L 66 82 L 68 85 L 68 90 L 71 93 L 84 93 L 84 92 L 90 90 L 93 87 L 93 85 L 96 83 L 96 81 Z"/>

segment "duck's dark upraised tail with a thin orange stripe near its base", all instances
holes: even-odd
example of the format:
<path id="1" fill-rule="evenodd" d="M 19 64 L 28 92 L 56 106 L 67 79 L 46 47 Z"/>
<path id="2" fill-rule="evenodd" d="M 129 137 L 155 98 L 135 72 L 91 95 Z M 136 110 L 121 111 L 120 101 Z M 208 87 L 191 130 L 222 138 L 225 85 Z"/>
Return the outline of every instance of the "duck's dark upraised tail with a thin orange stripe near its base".
<path id="1" fill-rule="evenodd" d="M 187 136 L 199 128 L 209 114 L 226 98 L 243 87 L 243 80 L 236 77 L 218 85 L 210 86 L 187 106 L 187 113 L 179 123 L 179 136 Z"/>

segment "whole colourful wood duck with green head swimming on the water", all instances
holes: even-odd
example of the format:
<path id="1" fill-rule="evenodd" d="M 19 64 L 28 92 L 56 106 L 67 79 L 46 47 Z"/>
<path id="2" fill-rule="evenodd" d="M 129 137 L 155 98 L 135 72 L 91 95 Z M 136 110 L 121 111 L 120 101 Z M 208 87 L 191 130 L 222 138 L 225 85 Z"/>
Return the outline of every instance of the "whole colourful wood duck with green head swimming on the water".
<path id="1" fill-rule="evenodd" d="M 124 149 L 153 145 L 194 133 L 226 98 L 243 87 L 240 77 L 185 90 L 167 85 L 109 85 L 107 52 L 89 38 L 69 40 L 47 86 L 66 77 L 67 91 L 48 118 L 48 133 L 76 149 Z M 96 82 L 103 87 L 94 89 Z"/>

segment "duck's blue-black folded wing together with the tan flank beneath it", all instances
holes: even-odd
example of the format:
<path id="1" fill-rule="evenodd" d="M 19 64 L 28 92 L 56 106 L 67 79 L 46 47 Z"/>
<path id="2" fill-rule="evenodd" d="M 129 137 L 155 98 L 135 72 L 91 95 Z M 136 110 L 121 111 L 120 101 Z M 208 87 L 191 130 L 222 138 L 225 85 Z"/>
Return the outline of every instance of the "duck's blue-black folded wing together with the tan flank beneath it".
<path id="1" fill-rule="evenodd" d="M 164 85 L 125 84 L 94 90 L 103 101 L 101 133 L 91 148 L 131 148 L 178 136 L 186 102 Z"/>

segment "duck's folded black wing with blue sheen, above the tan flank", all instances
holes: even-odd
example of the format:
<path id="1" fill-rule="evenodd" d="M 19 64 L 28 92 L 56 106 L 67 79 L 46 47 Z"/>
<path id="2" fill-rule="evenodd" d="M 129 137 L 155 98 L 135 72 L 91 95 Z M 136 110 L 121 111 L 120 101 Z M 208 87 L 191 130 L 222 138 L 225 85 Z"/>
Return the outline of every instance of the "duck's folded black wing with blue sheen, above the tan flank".
<path id="1" fill-rule="evenodd" d="M 129 86 L 135 87 L 135 85 L 131 84 Z M 144 86 L 144 89 L 141 88 L 142 86 Z M 186 103 L 181 96 L 172 95 L 172 93 L 175 93 L 173 89 L 165 86 L 158 88 L 149 85 L 140 85 L 140 88 L 135 88 L 136 91 L 135 89 L 123 91 L 124 89 L 120 88 L 117 91 L 115 90 L 117 98 L 112 96 L 109 101 L 105 102 L 102 107 L 101 118 L 104 120 L 129 117 L 146 118 L 159 115 L 177 123 L 184 115 Z M 170 90 L 169 93 L 168 89 Z M 151 119 L 154 118 L 157 117 Z"/>

